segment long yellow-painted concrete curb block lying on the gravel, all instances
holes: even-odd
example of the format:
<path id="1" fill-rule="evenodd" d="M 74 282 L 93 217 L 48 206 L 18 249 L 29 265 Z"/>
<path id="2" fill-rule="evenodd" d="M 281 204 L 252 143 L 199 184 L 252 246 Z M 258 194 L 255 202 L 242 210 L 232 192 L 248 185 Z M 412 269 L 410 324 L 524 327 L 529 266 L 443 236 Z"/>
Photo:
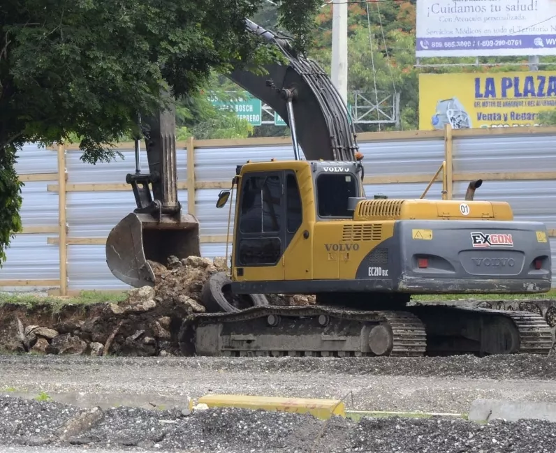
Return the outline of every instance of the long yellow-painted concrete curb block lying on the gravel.
<path id="1" fill-rule="evenodd" d="M 209 408 L 245 408 L 277 410 L 292 413 L 310 413 L 320 419 L 332 415 L 346 416 L 346 407 L 338 399 L 281 398 L 279 396 L 248 396 L 208 394 L 198 399 Z"/>

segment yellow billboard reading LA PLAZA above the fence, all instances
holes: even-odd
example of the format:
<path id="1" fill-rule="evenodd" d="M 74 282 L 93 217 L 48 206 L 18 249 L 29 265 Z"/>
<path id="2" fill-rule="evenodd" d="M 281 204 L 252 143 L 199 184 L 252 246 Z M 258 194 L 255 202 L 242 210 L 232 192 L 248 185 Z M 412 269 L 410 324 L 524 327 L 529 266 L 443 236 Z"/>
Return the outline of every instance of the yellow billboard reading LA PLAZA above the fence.
<path id="1" fill-rule="evenodd" d="M 556 109 L 556 71 L 419 75 L 419 129 L 538 126 Z"/>

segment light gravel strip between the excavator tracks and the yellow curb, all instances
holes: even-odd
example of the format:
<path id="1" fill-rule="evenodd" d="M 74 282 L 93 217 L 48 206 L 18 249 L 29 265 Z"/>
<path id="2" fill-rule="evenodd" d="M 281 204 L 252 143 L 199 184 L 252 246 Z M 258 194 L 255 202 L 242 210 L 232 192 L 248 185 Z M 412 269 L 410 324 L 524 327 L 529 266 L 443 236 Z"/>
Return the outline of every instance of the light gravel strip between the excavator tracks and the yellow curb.
<path id="1" fill-rule="evenodd" d="M 80 406 L 184 406 L 240 393 L 343 399 L 354 410 L 467 413 L 474 399 L 556 402 L 554 357 L 218 359 L 0 357 L 0 390 Z M 8 392 L 9 390 L 9 392 Z M 0 392 L 1 393 L 1 392 Z M 21 395 L 19 393 L 22 393 Z"/>

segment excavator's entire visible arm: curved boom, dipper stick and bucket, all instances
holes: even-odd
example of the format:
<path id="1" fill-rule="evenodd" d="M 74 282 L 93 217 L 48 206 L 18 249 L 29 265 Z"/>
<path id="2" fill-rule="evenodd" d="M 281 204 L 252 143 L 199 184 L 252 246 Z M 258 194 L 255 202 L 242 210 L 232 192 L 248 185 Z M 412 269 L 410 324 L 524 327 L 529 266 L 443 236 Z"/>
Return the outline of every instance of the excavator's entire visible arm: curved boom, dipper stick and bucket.
<path id="1" fill-rule="evenodd" d="M 277 46 L 288 64 L 268 64 L 265 75 L 238 68 L 228 77 L 286 121 L 296 159 L 301 147 L 307 160 L 356 161 L 358 145 L 346 104 L 321 66 L 297 52 L 288 39 L 248 19 L 245 26 Z M 136 172 L 126 182 L 137 207 L 112 228 L 105 250 L 112 274 L 135 287 L 154 285 L 150 262 L 166 265 L 170 255 L 200 255 L 198 220 L 184 214 L 177 200 L 175 112 L 161 110 L 142 124 L 149 171 L 140 170 L 136 140 Z"/>

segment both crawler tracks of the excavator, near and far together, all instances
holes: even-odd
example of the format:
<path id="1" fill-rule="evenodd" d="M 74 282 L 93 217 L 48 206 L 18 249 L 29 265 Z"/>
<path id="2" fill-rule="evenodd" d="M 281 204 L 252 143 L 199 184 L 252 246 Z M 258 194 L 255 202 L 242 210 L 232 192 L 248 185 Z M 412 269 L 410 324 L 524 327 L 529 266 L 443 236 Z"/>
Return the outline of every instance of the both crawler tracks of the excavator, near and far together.
<path id="1" fill-rule="evenodd" d="M 180 331 L 184 355 L 226 357 L 548 355 L 552 343 L 550 327 L 534 313 L 446 306 L 257 306 L 191 315 Z"/>

